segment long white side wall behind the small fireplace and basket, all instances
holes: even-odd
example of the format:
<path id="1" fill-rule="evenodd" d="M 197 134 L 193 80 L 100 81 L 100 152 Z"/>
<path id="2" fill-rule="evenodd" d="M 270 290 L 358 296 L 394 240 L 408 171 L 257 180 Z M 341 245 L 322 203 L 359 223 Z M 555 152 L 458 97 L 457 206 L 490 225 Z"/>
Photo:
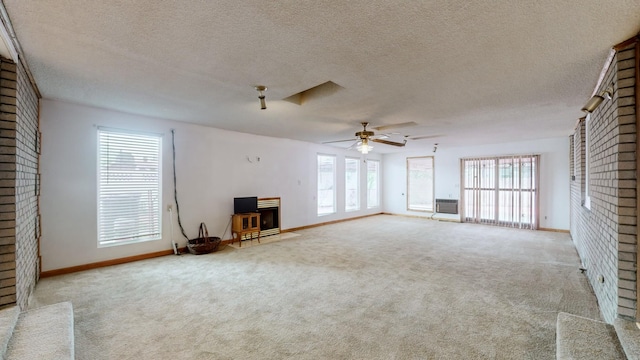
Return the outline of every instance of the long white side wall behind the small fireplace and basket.
<path id="1" fill-rule="evenodd" d="M 282 229 L 381 211 L 381 208 L 366 209 L 366 192 L 361 191 L 364 210 L 344 212 L 344 157 L 357 157 L 359 154 L 355 151 L 51 100 L 41 102 L 40 126 L 43 271 L 171 249 L 166 211 L 168 204 L 174 204 L 171 129 L 175 129 L 182 224 L 190 238 L 196 237 L 200 222 L 207 224 L 210 235 L 230 238 L 228 231 L 224 236 L 222 233 L 233 212 L 233 198 L 239 196 L 281 197 Z M 98 126 L 164 134 L 162 240 L 98 248 Z M 323 217 L 316 215 L 318 153 L 337 155 L 338 212 Z M 376 154 L 368 157 L 381 158 Z M 366 173 L 364 165 L 362 163 L 361 174 Z M 361 179 L 364 190 L 366 177 Z M 180 235 L 175 211 L 173 238 L 180 246 L 186 244 Z"/>

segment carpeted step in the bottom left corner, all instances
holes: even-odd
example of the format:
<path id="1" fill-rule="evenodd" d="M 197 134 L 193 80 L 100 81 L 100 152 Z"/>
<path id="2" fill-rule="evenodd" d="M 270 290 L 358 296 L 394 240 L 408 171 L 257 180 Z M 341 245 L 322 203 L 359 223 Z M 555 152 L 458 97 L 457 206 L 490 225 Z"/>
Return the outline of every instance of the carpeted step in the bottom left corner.
<path id="1" fill-rule="evenodd" d="M 62 302 L 20 314 L 7 360 L 74 359 L 73 308 Z M 79 359 L 88 359 L 79 357 Z"/>

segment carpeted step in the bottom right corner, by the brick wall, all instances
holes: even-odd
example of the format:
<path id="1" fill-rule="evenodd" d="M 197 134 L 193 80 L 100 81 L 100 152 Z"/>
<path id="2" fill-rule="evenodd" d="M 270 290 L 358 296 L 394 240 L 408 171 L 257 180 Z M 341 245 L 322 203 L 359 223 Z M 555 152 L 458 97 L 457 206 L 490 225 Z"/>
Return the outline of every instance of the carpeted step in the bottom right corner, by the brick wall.
<path id="1" fill-rule="evenodd" d="M 575 316 L 558 314 L 558 360 L 626 360 L 613 325 Z"/>

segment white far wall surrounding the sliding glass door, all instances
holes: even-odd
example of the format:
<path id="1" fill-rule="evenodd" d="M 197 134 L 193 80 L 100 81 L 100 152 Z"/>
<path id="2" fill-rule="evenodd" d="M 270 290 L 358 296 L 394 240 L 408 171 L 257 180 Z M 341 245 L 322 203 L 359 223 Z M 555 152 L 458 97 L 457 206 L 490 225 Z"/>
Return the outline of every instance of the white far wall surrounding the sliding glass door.
<path id="1" fill-rule="evenodd" d="M 384 211 L 393 214 L 431 216 L 407 211 L 406 158 L 435 157 L 435 197 L 460 199 L 460 159 L 474 156 L 540 154 L 540 227 L 569 229 L 569 140 L 568 137 L 483 146 L 447 148 L 436 153 L 405 152 L 383 156 Z M 437 215 L 441 218 L 459 216 Z"/>

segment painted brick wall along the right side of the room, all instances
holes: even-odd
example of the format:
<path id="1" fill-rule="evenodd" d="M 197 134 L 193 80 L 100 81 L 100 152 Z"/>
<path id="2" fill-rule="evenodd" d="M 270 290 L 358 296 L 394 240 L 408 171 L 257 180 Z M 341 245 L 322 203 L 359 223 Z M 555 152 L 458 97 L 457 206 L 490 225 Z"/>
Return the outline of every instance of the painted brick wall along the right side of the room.
<path id="1" fill-rule="evenodd" d="M 598 92 L 611 85 L 613 99 L 571 137 L 571 236 L 607 322 L 636 316 L 635 45 L 616 54 Z"/>

